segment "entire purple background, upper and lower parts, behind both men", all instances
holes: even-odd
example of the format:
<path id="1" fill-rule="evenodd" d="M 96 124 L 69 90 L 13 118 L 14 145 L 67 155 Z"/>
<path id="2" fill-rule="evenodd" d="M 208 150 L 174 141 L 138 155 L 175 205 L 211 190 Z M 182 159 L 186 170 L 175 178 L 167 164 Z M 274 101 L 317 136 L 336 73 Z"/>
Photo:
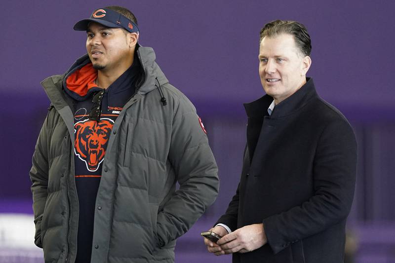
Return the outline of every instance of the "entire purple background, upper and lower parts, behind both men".
<path id="1" fill-rule="evenodd" d="M 154 48 L 167 78 L 195 103 L 220 168 L 221 193 L 178 242 L 179 255 L 196 246 L 198 231 L 224 212 L 233 195 L 245 144 L 242 103 L 264 94 L 258 77 L 259 30 L 271 20 L 288 19 L 309 30 L 313 64 L 308 75 L 314 77 L 318 93 L 345 113 L 356 130 L 358 181 L 350 224 L 359 231 L 362 248 L 372 248 L 369 242 L 376 236 L 381 250 L 371 250 L 384 255 L 383 262 L 394 260 L 392 0 L 3 2 L 0 212 L 31 212 L 28 171 L 49 105 L 40 80 L 62 74 L 85 53 L 85 34 L 73 31 L 74 23 L 94 8 L 111 4 L 135 13 L 140 43 Z M 358 262 L 381 262 L 369 253 Z M 184 256 L 193 259 L 188 253 Z"/>

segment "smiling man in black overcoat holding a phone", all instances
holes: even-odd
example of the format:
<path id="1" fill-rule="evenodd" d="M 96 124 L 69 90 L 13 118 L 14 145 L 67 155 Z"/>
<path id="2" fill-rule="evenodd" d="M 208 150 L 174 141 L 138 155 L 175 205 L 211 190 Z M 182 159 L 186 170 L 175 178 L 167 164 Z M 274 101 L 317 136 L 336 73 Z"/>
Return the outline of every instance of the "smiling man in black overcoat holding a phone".
<path id="1" fill-rule="evenodd" d="M 311 40 L 295 21 L 260 32 L 267 95 L 245 104 L 247 145 L 236 194 L 210 229 L 215 255 L 234 263 L 341 263 L 354 196 L 356 139 L 347 119 L 306 77 Z"/>

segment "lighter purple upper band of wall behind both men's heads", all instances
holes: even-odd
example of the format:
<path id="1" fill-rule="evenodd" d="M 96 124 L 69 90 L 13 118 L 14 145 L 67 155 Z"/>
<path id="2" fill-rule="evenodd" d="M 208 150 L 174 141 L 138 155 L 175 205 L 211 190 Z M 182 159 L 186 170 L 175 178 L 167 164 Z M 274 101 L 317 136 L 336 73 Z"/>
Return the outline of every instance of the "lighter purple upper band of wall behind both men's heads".
<path id="1" fill-rule="evenodd" d="M 35 4 L 37 2 L 37 4 Z M 42 94 L 39 82 L 63 73 L 85 52 L 76 21 L 112 1 L 7 1 L 1 14 L 1 91 Z M 318 91 L 335 104 L 394 101 L 395 2 L 126 1 L 140 42 L 156 50 L 168 78 L 191 98 L 239 104 L 262 94 L 258 34 L 273 19 L 304 23 L 313 43 Z M 391 96 L 392 95 L 392 96 Z"/>

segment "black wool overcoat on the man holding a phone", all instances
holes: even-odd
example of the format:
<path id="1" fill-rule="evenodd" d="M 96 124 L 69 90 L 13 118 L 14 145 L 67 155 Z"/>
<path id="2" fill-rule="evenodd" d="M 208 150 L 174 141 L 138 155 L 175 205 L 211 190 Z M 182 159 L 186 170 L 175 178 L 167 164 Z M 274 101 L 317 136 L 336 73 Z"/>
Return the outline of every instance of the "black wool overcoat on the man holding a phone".
<path id="1" fill-rule="evenodd" d="M 356 139 L 313 79 L 276 105 L 245 104 L 247 146 L 237 192 L 217 223 L 264 224 L 268 243 L 233 263 L 342 263 L 354 196 Z"/>

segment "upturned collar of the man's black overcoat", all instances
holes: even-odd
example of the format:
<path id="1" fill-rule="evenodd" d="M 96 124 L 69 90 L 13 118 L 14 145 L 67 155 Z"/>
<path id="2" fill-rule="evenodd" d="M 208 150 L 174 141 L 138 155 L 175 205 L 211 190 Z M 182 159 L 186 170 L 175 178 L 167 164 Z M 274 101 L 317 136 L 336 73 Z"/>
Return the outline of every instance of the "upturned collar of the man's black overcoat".
<path id="1" fill-rule="evenodd" d="M 311 98 L 316 96 L 317 93 L 313 78 L 308 77 L 306 84 L 304 84 L 294 94 L 276 105 L 271 118 L 279 118 L 292 114 L 303 108 Z M 269 115 L 267 109 L 272 102 L 273 97 L 266 94 L 256 101 L 244 103 L 247 116 L 263 118 L 264 116 Z"/>

